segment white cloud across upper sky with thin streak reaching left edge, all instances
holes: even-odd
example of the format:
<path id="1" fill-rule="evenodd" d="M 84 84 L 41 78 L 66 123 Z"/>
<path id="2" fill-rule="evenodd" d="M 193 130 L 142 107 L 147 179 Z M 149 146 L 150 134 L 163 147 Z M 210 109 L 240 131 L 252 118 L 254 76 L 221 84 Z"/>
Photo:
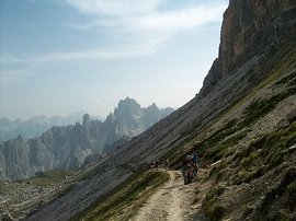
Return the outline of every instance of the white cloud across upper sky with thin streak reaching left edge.
<path id="1" fill-rule="evenodd" d="M 56 51 L 24 57 L 4 55 L 1 56 L 0 63 L 47 63 L 150 56 L 163 45 L 171 43 L 181 31 L 220 21 L 226 8 L 226 2 L 164 10 L 163 5 L 169 3 L 166 0 L 65 1 L 79 12 L 91 15 L 88 23 L 65 24 L 65 26 L 79 31 L 104 28 L 106 36 L 112 36 L 110 40 L 116 40 L 111 45 L 116 44 L 117 49 L 112 50 L 102 46 L 103 49 Z"/>

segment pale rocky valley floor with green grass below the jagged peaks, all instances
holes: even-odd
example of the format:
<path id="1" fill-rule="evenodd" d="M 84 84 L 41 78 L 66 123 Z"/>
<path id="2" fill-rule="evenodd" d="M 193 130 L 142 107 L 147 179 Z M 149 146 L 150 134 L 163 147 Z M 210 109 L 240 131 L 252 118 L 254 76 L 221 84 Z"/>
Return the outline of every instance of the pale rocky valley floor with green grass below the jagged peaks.
<path id="1" fill-rule="evenodd" d="M 41 207 L 68 193 L 107 158 L 101 158 L 95 165 L 89 164 L 82 171 L 38 172 L 32 178 L 0 182 L 1 220 L 23 220 L 38 211 Z"/>

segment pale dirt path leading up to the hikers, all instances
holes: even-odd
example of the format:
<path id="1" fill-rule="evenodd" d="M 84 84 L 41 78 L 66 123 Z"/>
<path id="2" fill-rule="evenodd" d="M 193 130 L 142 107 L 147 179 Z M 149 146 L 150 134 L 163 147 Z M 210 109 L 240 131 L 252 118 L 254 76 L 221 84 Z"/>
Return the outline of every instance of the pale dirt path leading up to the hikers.
<path id="1" fill-rule="evenodd" d="M 193 198 L 194 184 L 184 185 L 180 171 L 170 171 L 170 181 L 155 193 L 133 221 L 186 220 Z"/>

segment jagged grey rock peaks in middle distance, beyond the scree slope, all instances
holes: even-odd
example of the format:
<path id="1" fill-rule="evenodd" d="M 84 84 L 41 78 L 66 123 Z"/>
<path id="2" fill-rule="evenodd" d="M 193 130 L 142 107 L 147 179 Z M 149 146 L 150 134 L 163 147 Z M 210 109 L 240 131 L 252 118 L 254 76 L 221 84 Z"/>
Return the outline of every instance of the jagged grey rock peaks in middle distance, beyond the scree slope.
<path id="1" fill-rule="evenodd" d="M 87 156 L 94 154 L 87 162 L 100 159 L 98 154 L 103 150 L 112 151 L 171 112 L 162 112 L 155 104 L 141 108 L 135 100 L 127 97 L 103 123 L 91 120 L 86 114 L 82 125 L 53 127 L 41 137 L 29 140 L 19 136 L 0 143 L 0 179 L 25 178 L 38 171 L 54 168 L 78 170 Z"/>

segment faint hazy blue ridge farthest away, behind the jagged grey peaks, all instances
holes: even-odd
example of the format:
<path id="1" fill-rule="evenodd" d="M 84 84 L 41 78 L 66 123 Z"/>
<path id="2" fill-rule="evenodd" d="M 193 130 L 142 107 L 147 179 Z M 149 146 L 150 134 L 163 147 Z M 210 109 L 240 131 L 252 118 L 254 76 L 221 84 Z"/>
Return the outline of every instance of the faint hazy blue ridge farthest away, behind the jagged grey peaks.
<path id="1" fill-rule="evenodd" d="M 67 117 L 48 117 L 43 115 L 32 117 L 27 120 L 10 120 L 7 117 L 0 117 L 0 141 L 16 138 L 19 135 L 23 138 L 34 138 L 41 136 L 53 126 L 75 125 L 76 123 L 81 124 L 84 114 L 87 113 L 81 111 L 70 114 Z M 100 117 L 92 118 L 101 119 Z"/>

